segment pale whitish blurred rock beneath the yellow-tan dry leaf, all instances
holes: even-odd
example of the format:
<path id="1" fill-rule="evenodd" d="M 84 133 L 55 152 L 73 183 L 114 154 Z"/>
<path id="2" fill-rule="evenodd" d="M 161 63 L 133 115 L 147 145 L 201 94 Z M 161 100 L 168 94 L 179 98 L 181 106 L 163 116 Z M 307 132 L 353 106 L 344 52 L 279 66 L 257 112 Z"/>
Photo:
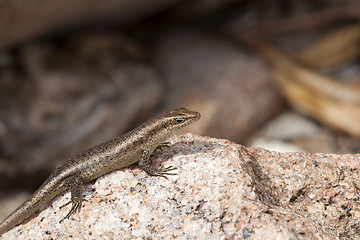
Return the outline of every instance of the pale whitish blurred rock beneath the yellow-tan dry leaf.
<path id="1" fill-rule="evenodd" d="M 343 134 L 318 125 L 311 119 L 296 113 L 284 112 L 272 119 L 266 126 L 252 137 L 250 145 L 278 152 L 322 152 L 322 153 L 356 153 L 356 149 L 342 149 Z M 357 139 L 348 137 L 354 146 Z"/>

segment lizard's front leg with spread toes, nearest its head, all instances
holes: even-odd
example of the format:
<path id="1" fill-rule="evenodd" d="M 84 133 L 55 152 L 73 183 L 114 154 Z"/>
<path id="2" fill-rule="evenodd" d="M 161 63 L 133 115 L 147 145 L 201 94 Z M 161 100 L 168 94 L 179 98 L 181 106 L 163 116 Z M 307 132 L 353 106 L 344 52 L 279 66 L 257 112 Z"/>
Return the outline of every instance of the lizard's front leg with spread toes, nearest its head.
<path id="1" fill-rule="evenodd" d="M 152 152 L 150 151 L 150 149 L 145 149 L 142 151 L 142 154 L 141 154 L 140 160 L 139 160 L 139 166 L 141 169 L 143 169 L 147 174 L 149 174 L 151 176 L 160 176 L 160 177 L 167 178 L 166 175 L 176 175 L 176 173 L 169 173 L 169 171 L 176 169 L 173 166 L 169 166 L 166 168 L 164 168 L 164 167 L 155 168 L 155 167 L 151 166 L 151 163 L 150 163 L 151 153 Z"/>

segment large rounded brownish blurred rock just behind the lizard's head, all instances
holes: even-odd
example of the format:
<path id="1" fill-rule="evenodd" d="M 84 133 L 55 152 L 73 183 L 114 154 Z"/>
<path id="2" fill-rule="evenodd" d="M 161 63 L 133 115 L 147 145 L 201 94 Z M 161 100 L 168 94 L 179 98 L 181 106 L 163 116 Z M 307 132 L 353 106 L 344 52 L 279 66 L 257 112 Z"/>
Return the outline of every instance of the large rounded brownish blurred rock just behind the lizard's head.
<path id="1" fill-rule="evenodd" d="M 266 66 L 228 40 L 172 32 L 158 40 L 154 58 L 168 87 L 165 107 L 202 113 L 191 132 L 241 142 L 281 109 Z"/>

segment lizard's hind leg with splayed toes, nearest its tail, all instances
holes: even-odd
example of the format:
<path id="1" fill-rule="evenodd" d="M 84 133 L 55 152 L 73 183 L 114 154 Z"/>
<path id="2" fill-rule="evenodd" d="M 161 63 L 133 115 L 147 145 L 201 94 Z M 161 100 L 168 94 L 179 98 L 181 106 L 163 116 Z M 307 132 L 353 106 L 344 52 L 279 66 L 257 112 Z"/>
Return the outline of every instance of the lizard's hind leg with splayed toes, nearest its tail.
<path id="1" fill-rule="evenodd" d="M 64 204 L 63 206 L 61 206 L 60 208 L 65 207 L 68 204 L 72 204 L 71 209 L 69 211 L 69 213 L 60 220 L 60 223 L 66 219 L 69 218 L 77 209 L 80 209 L 81 203 L 82 201 L 84 201 L 84 199 L 81 197 L 81 188 L 82 188 L 82 182 L 80 180 L 80 177 L 78 176 L 71 176 L 68 179 L 65 180 L 66 184 L 69 184 L 69 188 L 70 188 L 70 193 L 71 193 L 71 200 Z"/>

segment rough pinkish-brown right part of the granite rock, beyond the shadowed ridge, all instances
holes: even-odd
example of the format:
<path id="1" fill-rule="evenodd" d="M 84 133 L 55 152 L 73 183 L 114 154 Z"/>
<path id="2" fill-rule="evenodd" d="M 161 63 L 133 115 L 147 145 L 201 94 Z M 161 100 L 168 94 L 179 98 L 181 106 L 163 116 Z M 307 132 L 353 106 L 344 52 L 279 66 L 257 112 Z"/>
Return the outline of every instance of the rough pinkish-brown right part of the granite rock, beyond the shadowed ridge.
<path id="1" fill-rule="evenodd" d="M 285 209 L 339 239 L 359 239 L 360 155 L 252 149 Z"/>

